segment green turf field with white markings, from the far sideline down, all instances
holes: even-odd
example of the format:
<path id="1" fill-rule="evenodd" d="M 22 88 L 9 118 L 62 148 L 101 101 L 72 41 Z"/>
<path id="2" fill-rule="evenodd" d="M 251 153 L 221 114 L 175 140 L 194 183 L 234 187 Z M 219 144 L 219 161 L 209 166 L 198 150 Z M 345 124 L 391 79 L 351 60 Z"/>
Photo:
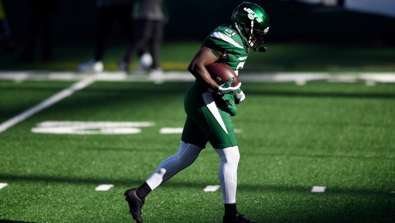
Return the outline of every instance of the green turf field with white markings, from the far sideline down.
<path id="1" fill-rule="evenodd" d="M 0 222 L 132 222 L 123 191 L 176 151 L 193 80 L 180 71 L 0 72 Z M 395 221 L 395 73 L 247 72 L 240 80 L 243 214 Z M 147 198 L 144 222 L 221 222 L 210 148 Z"/>

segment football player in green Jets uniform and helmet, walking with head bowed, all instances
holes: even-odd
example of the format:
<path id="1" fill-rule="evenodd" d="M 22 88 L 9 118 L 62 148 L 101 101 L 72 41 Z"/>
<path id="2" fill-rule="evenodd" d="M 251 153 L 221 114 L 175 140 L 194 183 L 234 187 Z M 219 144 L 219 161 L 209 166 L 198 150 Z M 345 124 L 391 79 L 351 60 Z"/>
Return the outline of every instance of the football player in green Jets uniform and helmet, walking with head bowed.
<path id="1" fill-rule="evenodd" d="M 178 151 L 165 159 L 140 187 L 124 193 L 130 213 L 137 222 L 142 222 L 141 208 L 148 193 L 191 165 L 208 142 L 221 158 L 219 179 L 225 204 L 223 222 L 253 222 L 236 208 L 240 154 L 231 117 L 236 115 L 236 104 L 242 102 L 245 95 L 240 89 L 241 83 L 230 86 L 233 78 L 217 84 L 206 66 L 224 63 L 238 73 L 250 48 L 266 51 L 260 45 L 268 33 L 269 18 L 260 6 L 243 2 L 236 7 L 231 20 L 232 24 L 221 25 L 207 36 L 188 66 L 196 80 L 185 94 L 186 121 Z"/>

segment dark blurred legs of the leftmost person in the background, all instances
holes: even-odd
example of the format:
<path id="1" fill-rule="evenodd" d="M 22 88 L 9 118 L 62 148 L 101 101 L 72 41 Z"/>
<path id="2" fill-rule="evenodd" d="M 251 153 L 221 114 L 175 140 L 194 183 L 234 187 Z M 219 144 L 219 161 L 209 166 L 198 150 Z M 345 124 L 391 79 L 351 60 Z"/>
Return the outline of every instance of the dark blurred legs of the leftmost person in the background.
<path id="1" fill-rule="evenodd" d="M 60 8 L 60 0 L 25 1 L 29 8 L 26 42 L 22 53 L 16 58 L 18 63 L 30 63 L 35 60 L 37 38 L 41 32 L 41 61 L 50 62 L 54 57 L 53 31 L 55 16 Z M 40 27 L 42 26 L 42 27 Z"/>

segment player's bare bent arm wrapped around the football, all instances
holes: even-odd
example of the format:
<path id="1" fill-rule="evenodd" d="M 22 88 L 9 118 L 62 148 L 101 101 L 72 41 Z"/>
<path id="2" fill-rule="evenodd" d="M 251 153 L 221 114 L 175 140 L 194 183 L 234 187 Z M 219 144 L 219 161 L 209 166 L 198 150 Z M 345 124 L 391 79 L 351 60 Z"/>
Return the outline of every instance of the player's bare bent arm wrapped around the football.
<path id="1" fill-rule="evenodd" d="M 217 55 L 221 58 L 224 53 L 215 50 Z M 217 55 L 209 47 L 202 47 L 190 61 L 188 66 L 188 71 L 201 83 L 205 84 L 207 87 L 218 91 L 219 85 L 213 78 L 211 78 L 209 71 L 207 71 L 206 66 L 215 63 L 218 60 Z"/>

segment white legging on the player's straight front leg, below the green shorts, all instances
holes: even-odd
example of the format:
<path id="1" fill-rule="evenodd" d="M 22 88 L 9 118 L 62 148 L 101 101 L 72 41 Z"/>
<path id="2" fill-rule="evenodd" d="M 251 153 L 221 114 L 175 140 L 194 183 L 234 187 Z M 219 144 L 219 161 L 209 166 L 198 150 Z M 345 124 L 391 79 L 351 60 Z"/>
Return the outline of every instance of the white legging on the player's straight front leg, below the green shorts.
<path id="1" fill-rule="evenodd" d="M 239 147 L 215 149 L 221 158 L 218 176 L 222 188 L 224 203 L 236 203 L 237 166 L 240 160 Z"/>

